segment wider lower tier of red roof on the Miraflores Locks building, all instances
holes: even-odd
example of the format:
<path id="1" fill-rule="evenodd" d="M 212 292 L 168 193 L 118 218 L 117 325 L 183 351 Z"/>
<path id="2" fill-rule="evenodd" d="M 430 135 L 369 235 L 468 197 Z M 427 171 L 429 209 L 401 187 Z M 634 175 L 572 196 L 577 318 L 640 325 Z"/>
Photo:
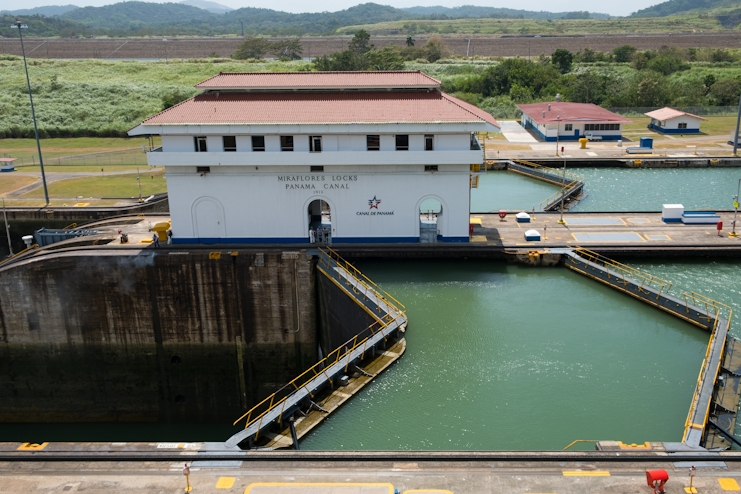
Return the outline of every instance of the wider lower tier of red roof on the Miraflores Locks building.
<path id="1" fill-rule="evenodd" d="M 370 124 L 475 122 L 494 117 L 440 91 L 207 93 L 142 125 Z"/>

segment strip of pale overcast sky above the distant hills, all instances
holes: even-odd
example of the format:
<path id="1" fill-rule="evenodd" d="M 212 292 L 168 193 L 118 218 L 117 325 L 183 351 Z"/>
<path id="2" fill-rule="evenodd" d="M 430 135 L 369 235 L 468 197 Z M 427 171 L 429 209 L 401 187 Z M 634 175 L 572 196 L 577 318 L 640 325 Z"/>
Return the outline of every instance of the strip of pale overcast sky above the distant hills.
<path id="1" fill-rule="evenodd" d="M 172 0 L 177 2 L 178 0 Z M 286 12 L 320 12 L 335 11 L 346 9 L 351 5 L 357 5 L 364 2 L 346 2 L 341 0 L 324 0 L 321 2 L 306 2 L 305 0 L 283 0 L 275 2 L 274 0 L 214 0 L 222 5 L 238 9 L 241 7 L 263 7 L 268 9 L 283 10 Z M 508 7 L 513 9 L 524 10 L 547 10 L 550 12 L 566 12 L 573 10 L 589 10 L 591 12 L 602 12 L 612 15 L 628 15 L 636 10 L 661 3 L 663 0 L 623 0 L 621 2 L 607 2 L 596 0 L 585 2 L 584 0 L 520 0 L 518 2 L 493 1 L 493 2 L 476 2 L 476 1 L 455 1 L 455 0 L 395 0 L 386 2 L 375 0 L 376 3 L 393 5 L 394 7 L 415 7 L 418 5 L 444 5 L 446 7 L 457 7 L 460 5 L 483 5 L 487 7 Z M 40 7 L 43 5 L 63 5 L 72 4 L 78 7 L 88 5 L 101 6 L 111 3 L 117 3 L 110 0 L 2 0 L 0 4 L 2 10 L 27 9 Z M 159 2 L 162 3 L 162 2 Z"/>

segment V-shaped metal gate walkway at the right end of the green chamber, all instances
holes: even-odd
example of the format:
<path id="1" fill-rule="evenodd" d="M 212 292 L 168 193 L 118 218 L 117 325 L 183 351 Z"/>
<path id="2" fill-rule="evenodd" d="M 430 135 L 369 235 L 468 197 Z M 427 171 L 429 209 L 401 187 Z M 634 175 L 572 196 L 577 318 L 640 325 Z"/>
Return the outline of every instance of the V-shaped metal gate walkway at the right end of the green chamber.
<path id="1" fill-rule="evenodd" d="M 667 292 L 672 286 L 671 282 L 587 249 L 562 249 L 559 252 L 566 256 L 566 267 L 710 332 L 710 341 L 700 368 L 682 437 L 682 442 L 687 446 L 704 447 L 703 441 L 708 427 L 710 407 L 714 403 L 715 385 L 724 358 L 732 309 L 694 292 L 682 293 L 681 298 L 669 295 Z"/>

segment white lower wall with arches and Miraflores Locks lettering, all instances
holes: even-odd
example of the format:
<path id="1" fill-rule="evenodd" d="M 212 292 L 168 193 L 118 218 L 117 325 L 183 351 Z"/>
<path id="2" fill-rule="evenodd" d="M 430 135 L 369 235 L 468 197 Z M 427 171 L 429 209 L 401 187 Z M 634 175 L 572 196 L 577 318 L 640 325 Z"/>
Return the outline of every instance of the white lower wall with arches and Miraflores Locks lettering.
<path id="1" fill-rule="evenodd" d="M 429 197 L 443 204 L 438 220 L 441 234 L 468 237 L 467 165 L 443 165 L 434 174 L 419 166 L 326 167 L 324 173 L 295 170 L 222 167 L 201 176 L 192 167 L 168 167 L 174 237 L 197 238 L 196 228 L 219 231 L 221 220 L 214 220 L 218 225 L 204 225 L 203 218 L 223 210 L 227 238 L 307 238 L 308 205 L 314 199 L 330 205 L 335 238 L 418 237 L 419 204 Z M 374 197 L 381 202 L 371 209 L 368 201 Z"/>

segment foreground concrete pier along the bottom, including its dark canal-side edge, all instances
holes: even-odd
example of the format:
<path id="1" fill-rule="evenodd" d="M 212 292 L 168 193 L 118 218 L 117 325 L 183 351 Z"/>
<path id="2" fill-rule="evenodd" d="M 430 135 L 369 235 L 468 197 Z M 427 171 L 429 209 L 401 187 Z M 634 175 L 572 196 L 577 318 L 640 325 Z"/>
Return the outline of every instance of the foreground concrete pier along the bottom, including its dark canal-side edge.
<path id="1" fill-rule="evenodd" d="M 31 460 L 13 461 L 9 457 L 18 446 L 0 444 L 3 492 L 183 492 L 186 463 L 192 492 L 213 494 L 393 494 L 394 489 L 401 494 L 643 494 L 650 492 L 647 469 L 666 470 L 667 491 L 676 493 L 689 487 L 692 465 L 696 467 L 693 486 L 700 493 L 735 491 L 741 482 L 738 452 L 287 451 L 206 455 L 198 449 L 163 449 L 157 444 L 87 444 L 78 445 L 73 455 L 64 452 L 67 445 L 52 443 Z M 82 456 L 92 449 L 97 450 L 97 461 Z M 120 451 L 124 449 L 129 452 L 122 461 Z M 101 461 L 103 454 L 112 461 Z"/>

